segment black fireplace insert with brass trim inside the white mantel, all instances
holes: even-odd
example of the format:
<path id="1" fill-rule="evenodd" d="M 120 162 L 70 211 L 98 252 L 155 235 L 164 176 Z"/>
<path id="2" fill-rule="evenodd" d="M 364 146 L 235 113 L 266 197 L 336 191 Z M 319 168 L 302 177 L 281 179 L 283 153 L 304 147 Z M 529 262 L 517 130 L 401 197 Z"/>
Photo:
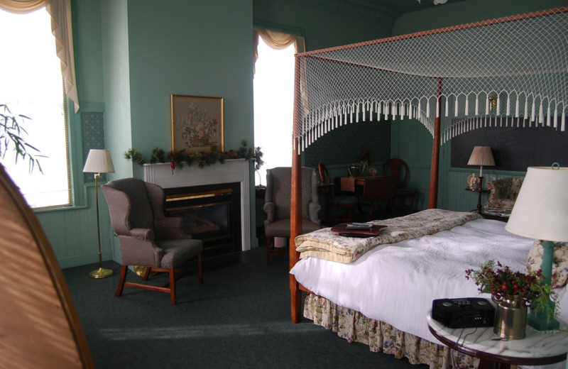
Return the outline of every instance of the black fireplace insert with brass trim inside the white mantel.
<path id="1" fill-rule="evenodd" d="M 182 229 L 203 241 L 203 256 L 241 250 L 241 184 L 165 188 L 165 211 L 182 219 Z"/>

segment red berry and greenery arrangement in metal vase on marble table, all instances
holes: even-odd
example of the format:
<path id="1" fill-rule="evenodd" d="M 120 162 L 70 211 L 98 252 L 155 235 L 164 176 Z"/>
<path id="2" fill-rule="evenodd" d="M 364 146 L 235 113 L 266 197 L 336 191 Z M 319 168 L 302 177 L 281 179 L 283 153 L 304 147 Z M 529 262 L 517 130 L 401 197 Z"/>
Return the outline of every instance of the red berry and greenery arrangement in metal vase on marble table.
<path id="1" fill-rule="evenodd" d="M 557 294 L 552 292 L 550 285 L 543 282 L 545 277 L 542 270 L 527 273 L 511 270 L 508 266 L 497 261 L 488 260 L 481 265 L 480 270 L 466 270 L 466 279 L 472 279 L 479 286 L 479 292 L 491 293 L 496 301 L 506 296 L 519 295 L 521 302 L 535 312 L 544 312 L 548 321 L 556 317 L 554 305 Z"/>

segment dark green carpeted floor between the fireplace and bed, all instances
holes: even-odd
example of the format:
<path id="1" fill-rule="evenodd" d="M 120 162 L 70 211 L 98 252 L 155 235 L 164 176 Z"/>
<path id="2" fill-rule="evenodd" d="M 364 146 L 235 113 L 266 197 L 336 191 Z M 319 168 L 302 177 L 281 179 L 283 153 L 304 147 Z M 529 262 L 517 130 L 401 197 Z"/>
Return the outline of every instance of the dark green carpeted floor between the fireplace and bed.
<path id="1" fill-rule="evenodd" d="M 290 322 L 288 255 L 257 248 L 204 260 L 204 283 L 169 294 L 125 287 L 115 274 L 93 280 L 97 264 L 63 270 L 97 368 L 426 368 L 348 343 L 302 319 Z M 136 279 L 133 273 L 129 278 Z M 156 275 L 165 283 L 165 275 Z"/>

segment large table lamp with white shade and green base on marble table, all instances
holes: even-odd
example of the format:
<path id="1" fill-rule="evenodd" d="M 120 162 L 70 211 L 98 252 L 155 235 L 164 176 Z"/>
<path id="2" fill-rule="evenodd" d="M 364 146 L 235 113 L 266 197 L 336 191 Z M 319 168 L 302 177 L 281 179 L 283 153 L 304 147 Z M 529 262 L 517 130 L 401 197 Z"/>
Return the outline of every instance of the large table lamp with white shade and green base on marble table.
<path id="1" fill-rule="evenodd" d="M 568 167 L 528 167 L 527 175 L 505 229 L 519 236 L 543 240 L 542 275 L 545 284 L 552 280 L 552 259 L 556 242 L 568 241 Z M 554 302 L 550 301 L 552 307 Z M 558 328 L 547 322 L 545 313 L 530 312 L 528 324 L 539 331 Z"/>

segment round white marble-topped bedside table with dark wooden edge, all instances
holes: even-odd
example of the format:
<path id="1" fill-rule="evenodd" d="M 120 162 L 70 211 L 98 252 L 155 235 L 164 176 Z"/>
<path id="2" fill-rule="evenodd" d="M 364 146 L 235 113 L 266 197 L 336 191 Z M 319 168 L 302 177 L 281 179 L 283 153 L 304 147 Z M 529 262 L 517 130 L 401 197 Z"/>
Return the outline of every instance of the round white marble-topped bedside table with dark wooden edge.
<path id="1" fill-rule="evenodd" d="M 506 340 L 493 333 L 493 327 L 448 328 L 427 314 L 428 329 L 449 348 L 480 359 L 478 368 L 508 368 L 515 365 L 547 365 L 566 359 L 567 326 L 537 331 L 527 326 L 523 339 Z M 458 341 L 459 340 L 459 341 Z"/>

